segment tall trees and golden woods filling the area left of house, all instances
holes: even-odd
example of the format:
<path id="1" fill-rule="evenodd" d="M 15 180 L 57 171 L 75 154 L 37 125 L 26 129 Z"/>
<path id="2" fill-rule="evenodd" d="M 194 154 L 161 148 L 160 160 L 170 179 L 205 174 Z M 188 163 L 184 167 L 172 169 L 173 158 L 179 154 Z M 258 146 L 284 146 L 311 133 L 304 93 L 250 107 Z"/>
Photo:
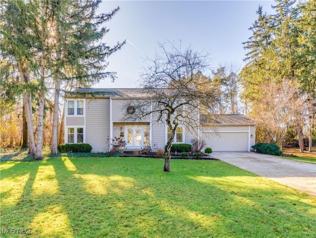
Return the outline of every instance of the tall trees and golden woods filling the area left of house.
<path id="1" fill-rule="evenodd" d="M 60 94 L 116 78 L 105 71 L 107 57 L 124 42 L 108 46 L 102 39 L 109 31 L 104 23 L 119 8 L 96 14 L 100 0 L 0 4 L 1 144 L 28 146 L 42 159 L 43 143 L 57 153 L 58 127 L 62 140 Z"/>

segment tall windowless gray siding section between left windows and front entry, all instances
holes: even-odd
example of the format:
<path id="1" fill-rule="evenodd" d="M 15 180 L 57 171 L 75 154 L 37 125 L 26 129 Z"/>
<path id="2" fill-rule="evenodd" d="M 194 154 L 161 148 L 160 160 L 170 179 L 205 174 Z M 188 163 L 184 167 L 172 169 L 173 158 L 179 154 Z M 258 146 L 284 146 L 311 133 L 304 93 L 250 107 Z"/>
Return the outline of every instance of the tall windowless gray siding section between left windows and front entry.
<path id="1" fill-rule="evenodd" d="M 85 110 L 85 142 L 92 146 L 92 152 L 108 151 L 110 99 L 86 100 Z"/>

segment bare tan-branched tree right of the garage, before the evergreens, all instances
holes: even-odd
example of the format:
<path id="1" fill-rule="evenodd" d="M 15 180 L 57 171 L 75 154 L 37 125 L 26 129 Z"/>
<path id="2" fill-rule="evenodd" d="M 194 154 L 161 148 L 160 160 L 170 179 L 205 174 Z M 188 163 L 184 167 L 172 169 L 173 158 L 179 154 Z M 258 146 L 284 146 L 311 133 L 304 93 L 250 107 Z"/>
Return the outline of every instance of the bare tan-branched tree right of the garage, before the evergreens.
<path id="1" fill-rule="evenodd" d="M 300 123 L 306 99 L 297 98 L 299 87 L 292 80 L 265 83 L 260 87 L 262 93 L 252 103 L 256 110 L 252 111 L 251 118 L 258 122 L 259 131 L 264 128 L 263 136 L 271 143 L 282 142 L 288 128 Z"/>

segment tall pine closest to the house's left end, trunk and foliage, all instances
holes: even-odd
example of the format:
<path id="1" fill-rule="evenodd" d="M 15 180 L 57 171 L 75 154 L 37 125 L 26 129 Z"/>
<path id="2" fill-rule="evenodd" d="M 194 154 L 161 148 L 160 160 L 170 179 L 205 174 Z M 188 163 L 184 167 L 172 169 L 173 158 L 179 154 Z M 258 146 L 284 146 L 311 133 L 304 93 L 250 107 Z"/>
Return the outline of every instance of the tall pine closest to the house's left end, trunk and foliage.
<path id="1" fill-rule="evenodd" d="M 81 83 L 96 83 L 101 79 L 114 80 L 114 72 L 105 72 L 107 58 L 125 43 L 110 47 L 101 40 L 108 33 L 104 26 L 117 14 L 119 8 L 110 13 L 96 14 L 100 0 L 56 1 L 56 63 L 55 103 L 51 154 L 57 153 L 57 127 L 59 87 L 62 81 L 78 80 Z"/>

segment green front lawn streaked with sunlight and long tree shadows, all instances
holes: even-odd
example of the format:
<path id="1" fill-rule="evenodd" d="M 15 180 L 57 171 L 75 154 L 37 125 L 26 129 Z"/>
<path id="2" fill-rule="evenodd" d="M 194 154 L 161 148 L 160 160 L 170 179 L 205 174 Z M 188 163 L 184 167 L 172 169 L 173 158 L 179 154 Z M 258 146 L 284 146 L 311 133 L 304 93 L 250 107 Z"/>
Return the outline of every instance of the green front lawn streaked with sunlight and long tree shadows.
<path id="1" fill-rule="evenodd" d="M 162 167 L 144 158 L 1 162 L 1 229 L 36 238 L 316 237 L 315 197 L 223 161 Z"/>

